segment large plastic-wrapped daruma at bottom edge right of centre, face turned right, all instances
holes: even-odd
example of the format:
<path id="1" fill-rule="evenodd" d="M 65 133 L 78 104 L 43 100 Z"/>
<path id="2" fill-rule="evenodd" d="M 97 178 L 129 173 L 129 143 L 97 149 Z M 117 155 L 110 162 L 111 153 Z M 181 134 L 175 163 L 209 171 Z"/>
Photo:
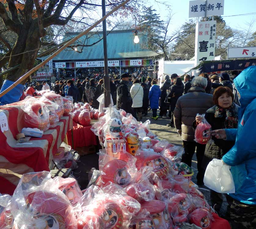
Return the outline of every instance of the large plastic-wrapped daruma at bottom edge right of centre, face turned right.
<path id="1" fill-rule="evenodd" d="M 169 229 L 172 225 L 170 213 L 166 205 L 160 200 L 150 200 L 141 203 L 141 209 L 149 211 L 152 220 L 154 221 L 156 229 Z"/>

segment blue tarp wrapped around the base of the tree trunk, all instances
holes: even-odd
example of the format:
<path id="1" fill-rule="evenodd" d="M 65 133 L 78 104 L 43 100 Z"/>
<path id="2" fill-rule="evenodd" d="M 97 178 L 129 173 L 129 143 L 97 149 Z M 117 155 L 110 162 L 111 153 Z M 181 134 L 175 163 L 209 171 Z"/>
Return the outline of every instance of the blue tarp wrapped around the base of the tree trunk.
<path id="1" fill-rule="evenodd" d="M 13 85 L 13 81 L 5 79 L 2 88 L 0 90 L 0 93 L 7 89 L 9 86 Z M 10 90 L 8 93 L 6 93 L 4 96 L 0 98 L 0 105 L 15 103 L 20 100 L 20 97 L 22 95 L 22 91 L 24 90 L 24 85 L 18 84 L 15 86 L 12 90 Z"/>

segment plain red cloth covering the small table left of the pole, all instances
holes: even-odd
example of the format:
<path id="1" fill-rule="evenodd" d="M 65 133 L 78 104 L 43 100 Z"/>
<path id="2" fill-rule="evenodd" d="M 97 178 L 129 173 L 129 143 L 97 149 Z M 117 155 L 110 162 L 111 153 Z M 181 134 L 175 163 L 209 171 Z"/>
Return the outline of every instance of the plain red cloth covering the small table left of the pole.
<path id="1" fill-rule="evenodd" d="M 91 131 L 90 126 L 82 126 L 74 122 L 73 127 L 73 146 L 71 129 L 67 132 L 68 145 L 77 150 L 77 147 L 97 145 L 97 136 Z"/>

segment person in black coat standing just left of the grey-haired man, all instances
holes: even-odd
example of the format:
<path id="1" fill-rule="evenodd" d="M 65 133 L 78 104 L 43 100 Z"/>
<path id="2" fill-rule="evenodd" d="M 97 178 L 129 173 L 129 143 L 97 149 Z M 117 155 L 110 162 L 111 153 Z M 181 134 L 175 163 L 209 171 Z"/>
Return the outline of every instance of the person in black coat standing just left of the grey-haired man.
<path id="1" fill-rule="evenodd" d="M 167 124 L 169 127 L 174 126 L 174 118 L 173 112 L 179 97 L 182 96 L 184 91 L 183 83 L 181 78 L 176 77 L 174 78 L 173 85 L 170 87 L 170 92 L 168 93 L 168 100 L 170 101 L 170 112 L 171 112 L 171 122 Z M 170 115 L 170 114 L 169 114 Z"/>

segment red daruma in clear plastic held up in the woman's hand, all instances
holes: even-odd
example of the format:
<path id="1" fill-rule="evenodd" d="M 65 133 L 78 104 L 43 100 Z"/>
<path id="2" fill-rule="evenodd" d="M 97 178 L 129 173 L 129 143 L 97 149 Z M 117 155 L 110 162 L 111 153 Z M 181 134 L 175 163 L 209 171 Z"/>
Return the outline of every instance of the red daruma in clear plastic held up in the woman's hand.
<path id="1" fill-rule="evenodd" d="M 197 114 L 196 117 L 201 116 L 202 119 L 199 124 L 197 124 L 195 131 L 195 141 L 200 144 L 207 144 L 211 139 L 211 125 L 204 118 L 205 114 Z"/>

